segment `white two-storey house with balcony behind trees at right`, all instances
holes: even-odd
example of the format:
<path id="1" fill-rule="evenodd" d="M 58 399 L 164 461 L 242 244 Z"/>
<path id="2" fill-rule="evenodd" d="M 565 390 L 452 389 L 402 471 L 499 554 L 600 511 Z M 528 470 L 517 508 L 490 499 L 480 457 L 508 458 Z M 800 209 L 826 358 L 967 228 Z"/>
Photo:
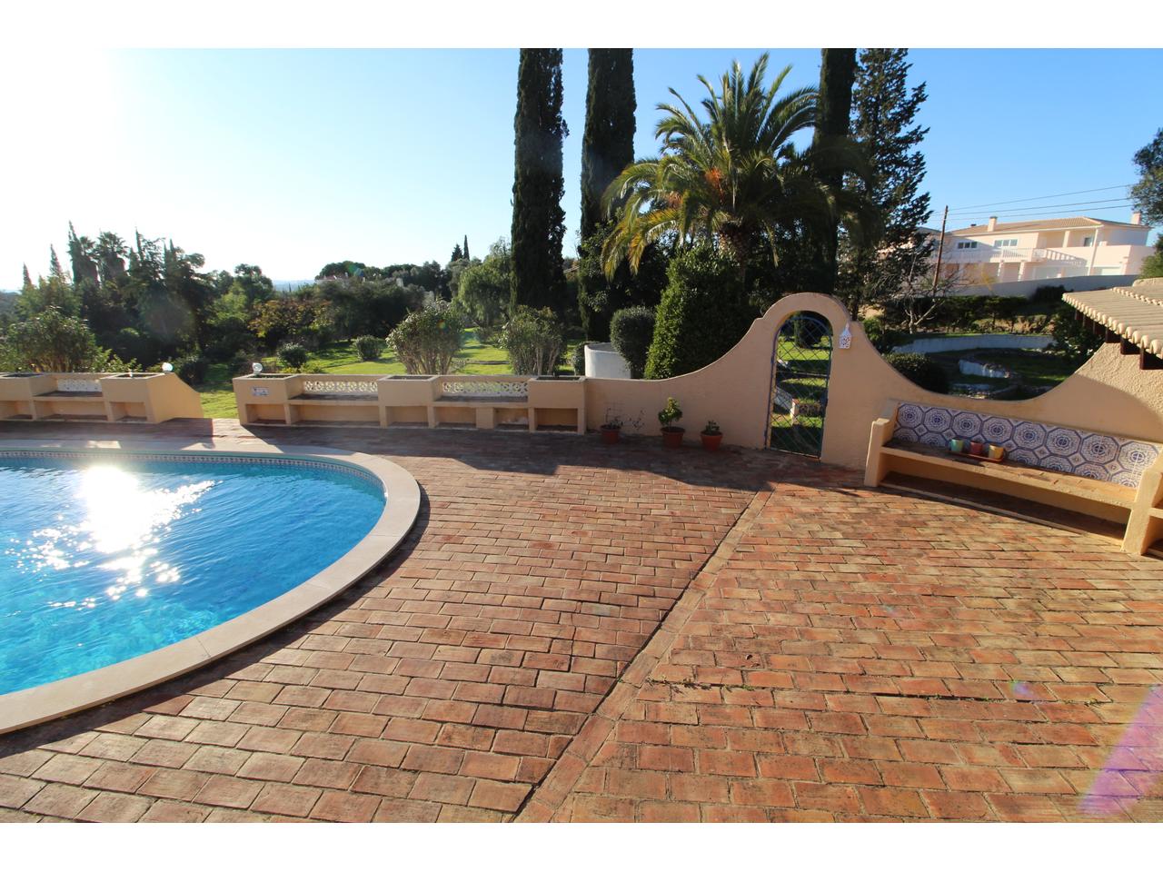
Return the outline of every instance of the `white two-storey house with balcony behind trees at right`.
<path id="1" fill-rule="evenodd" d="M 1007 281 L 1075 276 L 1137 276 L 1151 228 L 1134 213 L 1130 222 L 1085 216 L 971 224 L 946 233 L 941 274 L 961 283 Z"/>

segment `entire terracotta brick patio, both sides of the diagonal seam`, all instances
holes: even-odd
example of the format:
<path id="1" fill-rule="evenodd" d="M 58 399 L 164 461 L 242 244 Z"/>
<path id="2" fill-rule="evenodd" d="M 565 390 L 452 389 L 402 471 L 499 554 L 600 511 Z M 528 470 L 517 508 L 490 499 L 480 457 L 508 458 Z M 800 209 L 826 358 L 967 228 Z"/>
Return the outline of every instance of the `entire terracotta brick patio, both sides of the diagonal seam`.
<path id="1" fill-rule="evenodd" d="M 764 452 L 252 433 L 390 457 L 415 530 L 309 619 L 0 737 L 0 820 L 1163 820 L 1160 560 Z M 0 426 L 34 435 L 81 434 Z"/>

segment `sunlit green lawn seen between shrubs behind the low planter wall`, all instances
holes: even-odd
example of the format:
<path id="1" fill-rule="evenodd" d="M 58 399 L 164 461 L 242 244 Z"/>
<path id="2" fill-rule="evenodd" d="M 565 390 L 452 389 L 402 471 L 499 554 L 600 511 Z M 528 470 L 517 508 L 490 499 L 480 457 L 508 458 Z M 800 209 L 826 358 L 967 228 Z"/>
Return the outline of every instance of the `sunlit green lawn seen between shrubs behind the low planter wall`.
<path id="1" fill-rule="evenodd" d="M 565 359 L 578 341 L 568 344 Z M 455 372 L 471 376 L 507 376 L 512 373 L 508 356 L 498 345 L 486 344 L 477 337 L 476 329 L 464 331 L 464 344 L 457 355 Z M 262 358 L 263 366 L 270 372 L 278 369 L 273 355 Z M 335 342 L 311 352 L 304 372 L 329 372 L 337 376 L 399 376 L 404 373 L 404 364 L 395 359 L 391 348 L 385 348 L 377 360 L 361 360 L 351 341 Z M 202 398 L 202 413 L 207 417 L 237 417 L 238 409 L 234 402 L 234 386 L 230 383 L 229 364 L 213 364 L 206 381 L 198 385 Z"/>

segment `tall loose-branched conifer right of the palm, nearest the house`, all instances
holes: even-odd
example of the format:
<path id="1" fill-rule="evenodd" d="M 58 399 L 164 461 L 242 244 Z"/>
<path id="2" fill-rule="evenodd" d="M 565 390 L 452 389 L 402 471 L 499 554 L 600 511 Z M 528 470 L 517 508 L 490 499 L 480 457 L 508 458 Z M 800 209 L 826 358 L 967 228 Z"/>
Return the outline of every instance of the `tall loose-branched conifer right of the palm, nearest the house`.
<path id="1" fill-rule="evenodd" d="M 883 231 L 846 245 L 840 291 L 855 314 L 911 279 L 923 279 L 933 250 L 933 240 L 919 233 L 932 214 L 928 193 L 919 193 L 925 155 L 918 146 L 928 128 L 916 123 L 916 112 L 926 99 L 925 83 L 908 87 L 907 56 L 907 49 L 864 49 L 856 71 L 852 136 L 868 157 L 870 176 L 868 184 L 852 178 L 849 186 L 872 203 Z"/>

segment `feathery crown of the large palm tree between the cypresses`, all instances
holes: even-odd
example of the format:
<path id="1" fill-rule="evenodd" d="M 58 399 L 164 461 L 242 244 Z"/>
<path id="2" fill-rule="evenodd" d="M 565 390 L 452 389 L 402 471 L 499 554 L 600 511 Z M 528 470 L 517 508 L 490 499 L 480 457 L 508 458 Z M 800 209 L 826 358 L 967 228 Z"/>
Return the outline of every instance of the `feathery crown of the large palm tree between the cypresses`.
<path id="1" fill-rule="evenodd" d="M 764 87 L 766 69 L 766 53 L 747 77 L 736 63 L 719 91 L 700 76 L 706 120 L 670 90 L 680 106 L 657 107 L 665 113 L 655 127 L 661 156 L 627 166 L 602 198 L 616 213 L 602 248 L 607 274 L 623 259 L 636 271 L 647 246 L 663 238 L 713 240 L 742 270 L 764 244 L 777 257 L 779 227 L 856 227 L 858 201 L 821 178 L 826 167 L 862 172 L 859 152 L 847 140 L 798 150 L 791 140 L 815 124 L 816 88 L 779 94 L 791 66 Z"/>

